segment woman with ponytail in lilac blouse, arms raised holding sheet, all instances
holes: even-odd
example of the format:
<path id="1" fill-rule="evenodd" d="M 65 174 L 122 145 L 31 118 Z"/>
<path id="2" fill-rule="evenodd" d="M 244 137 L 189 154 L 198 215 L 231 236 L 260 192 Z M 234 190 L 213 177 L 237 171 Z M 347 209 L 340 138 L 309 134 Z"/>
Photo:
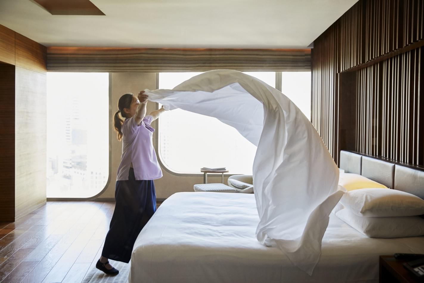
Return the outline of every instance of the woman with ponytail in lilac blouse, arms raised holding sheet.
<path id="1" fill-rule="evenodd" d="M 139 92 L 138 99 L 132 93 L 124 94 L 114 115 L 118 140 L 123 141 L 115 190 L 116 206 L 102 256 L 96 263 L 96 268 L 106 274 L 119 273 L 109 264 L 109 258 L 130 261 L 138 234 L 156 211 L 153 180 L 162 177 L 162 170 L 153 148 L 154 129 L 150 124 L 165 109 L 162 107 L 146 116 L 147 98 L 144 91 Z"/>

